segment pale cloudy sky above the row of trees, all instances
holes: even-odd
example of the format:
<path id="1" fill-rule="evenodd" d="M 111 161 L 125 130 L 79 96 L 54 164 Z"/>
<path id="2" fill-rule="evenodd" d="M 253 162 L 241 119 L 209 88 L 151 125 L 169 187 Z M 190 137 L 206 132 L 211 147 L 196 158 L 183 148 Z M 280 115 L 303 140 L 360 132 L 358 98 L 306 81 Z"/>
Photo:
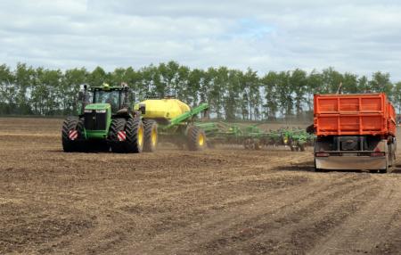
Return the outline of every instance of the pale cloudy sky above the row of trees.
<path id="1" fill-rule="evenodd" d="M 323 70 L 401 80 L 401 1 L 0 0 L 0 62 Z"/>

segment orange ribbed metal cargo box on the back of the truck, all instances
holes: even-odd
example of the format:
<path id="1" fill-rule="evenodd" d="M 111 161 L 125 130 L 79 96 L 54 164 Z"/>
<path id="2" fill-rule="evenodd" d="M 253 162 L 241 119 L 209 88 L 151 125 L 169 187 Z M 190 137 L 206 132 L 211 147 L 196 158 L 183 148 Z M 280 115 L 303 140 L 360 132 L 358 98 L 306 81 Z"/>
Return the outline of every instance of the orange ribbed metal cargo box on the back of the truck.
<path id="1" fill-rule="evenodd" d="M 316 136 L 396 136 L 396 111 L 384 93 L 315 95 Z"/>

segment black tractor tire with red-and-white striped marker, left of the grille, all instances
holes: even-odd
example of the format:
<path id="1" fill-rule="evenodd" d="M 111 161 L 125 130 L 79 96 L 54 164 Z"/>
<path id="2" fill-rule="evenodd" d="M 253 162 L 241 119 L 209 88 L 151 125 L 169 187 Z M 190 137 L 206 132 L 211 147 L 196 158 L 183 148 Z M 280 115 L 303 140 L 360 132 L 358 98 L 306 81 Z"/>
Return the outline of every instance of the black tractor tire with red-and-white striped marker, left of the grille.
<path id="1" fill-rule="evenodd" d="M 83 131 L 84 131 L 84 120 L 78 119 L 77 117 L 69 117 L 65 119 L 62 123 L 61 130 L 61 140 L 62 140 L 62 150 L 64 152 L 81 152 L 82 151 L 82 141 Z M 74 140 L 70 139 L 70 131 L 77 130 L 78 137 Z"/>

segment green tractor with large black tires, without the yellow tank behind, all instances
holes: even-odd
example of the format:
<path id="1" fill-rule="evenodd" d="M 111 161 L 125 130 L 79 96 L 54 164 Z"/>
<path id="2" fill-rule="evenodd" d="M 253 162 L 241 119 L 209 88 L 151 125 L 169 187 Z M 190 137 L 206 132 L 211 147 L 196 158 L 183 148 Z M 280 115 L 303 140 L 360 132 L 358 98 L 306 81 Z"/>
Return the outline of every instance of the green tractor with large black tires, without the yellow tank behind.
<path id="1" fill-rule="evenodd" d="M 141 112 L 133 110 L 133 97 L 128 86 L 84 86 L 78 96 L 81 114 L 62 125 L 64 152 L 151 151 L 152 141 L 143 134 L 157 132 L 157 126 L 143 122 Z"/>

